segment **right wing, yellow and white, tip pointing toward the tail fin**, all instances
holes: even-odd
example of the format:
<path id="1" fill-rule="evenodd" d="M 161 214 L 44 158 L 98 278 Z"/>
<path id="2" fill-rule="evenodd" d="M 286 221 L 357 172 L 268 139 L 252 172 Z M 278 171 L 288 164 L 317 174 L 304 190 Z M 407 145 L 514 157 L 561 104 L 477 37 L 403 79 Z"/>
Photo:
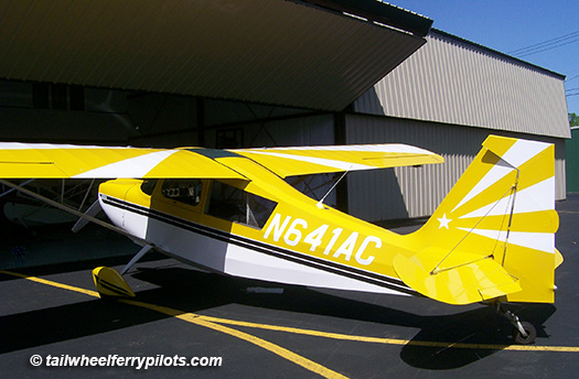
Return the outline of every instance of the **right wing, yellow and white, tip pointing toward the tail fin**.
<path id="1" fill-rule="evenodd" d="M 232 150 L 268 167 L 281 177 L 344 171 L 375 170 L 442 163 L 428 150 L 407 144 L 352 144 L 303 148 Z"/>

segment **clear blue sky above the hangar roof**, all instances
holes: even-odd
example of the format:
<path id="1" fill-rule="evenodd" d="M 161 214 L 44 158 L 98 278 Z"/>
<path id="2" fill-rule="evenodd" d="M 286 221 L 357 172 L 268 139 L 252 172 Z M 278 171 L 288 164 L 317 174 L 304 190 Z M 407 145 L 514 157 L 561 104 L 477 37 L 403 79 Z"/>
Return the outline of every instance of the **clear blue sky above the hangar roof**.
<path id="1" fill-rule="evenodd" d="M 426 15 L 432 28 L 510 53 L 548 40 L 565 44 L 521 58 L 567 76 L 568 94 L 579 94 L 578 0 L 390 0 Z M 577 32 L 577 34 L 571 34 Z M 570 34 L 570 35 L 569 35 Z M 550 43 L 548 46 L 553 47 Z M 578 88 L 575 90 L 573 88 Z M 579 95 L 568 96 L 569 112 L 579 115 Z"/>

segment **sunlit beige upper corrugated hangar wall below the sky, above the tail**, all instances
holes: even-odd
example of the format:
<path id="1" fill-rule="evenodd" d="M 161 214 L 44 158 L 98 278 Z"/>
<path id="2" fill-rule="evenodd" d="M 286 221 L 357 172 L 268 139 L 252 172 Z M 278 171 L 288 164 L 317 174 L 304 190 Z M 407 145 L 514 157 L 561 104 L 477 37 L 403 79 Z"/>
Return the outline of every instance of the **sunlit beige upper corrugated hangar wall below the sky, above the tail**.
<path id="1" fill-rule="evenodd" d="M 363 113 L 569 138 L 562 77 L 431 32 L 356 102 Z"/>

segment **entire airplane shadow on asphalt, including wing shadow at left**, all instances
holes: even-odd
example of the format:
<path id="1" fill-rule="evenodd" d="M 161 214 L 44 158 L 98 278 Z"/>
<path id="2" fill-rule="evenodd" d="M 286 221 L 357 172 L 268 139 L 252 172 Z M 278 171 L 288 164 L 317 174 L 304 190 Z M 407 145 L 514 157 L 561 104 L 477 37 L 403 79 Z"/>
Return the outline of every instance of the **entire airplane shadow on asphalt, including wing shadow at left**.
<path id="1" fill-rule="evenodd" d="M 29 274 L 35 273 L 35 270 L 29 271 Z M 1 277 L 4 281 L 13 280 Z M 129 272 L 129 277 L 158 285 L 139 291 L 138 301 L 182 312 L 205 311 L 203 313 L 211 314 L 212 310 L 218 308 L 219 317 L 224 318 L 259 323 L 267 317 L 267 323 L 280 326 L 301 327 L 305 323 L 307 328 L 343 334 L 351 334 L 355 326 L 360 335 L 409 339 L 400 348 L 400 358 L 417 368 L 439 370 L 462 367 L 501 350 L 501 346 L 513 345 L 511 324 L 487 306 L 468 306 L 467 311 L 462 311 L 459 306 L 448 306 L 429 299 L 342 291 L 328 293 L 181 267 L 136 268 Z M 265 290 L 248 291 L 256 288 Z M 46 300 L 42 299 L 44 290 L 42 286 L 40 289 L 41 308 L 0 316 L 0 354 L 99 335 L 169 317 L 101 300 L 45 307 Z M 539 338 L 548 337 L 540 325 L 555 313 L 555 306 L 525 304 L 511 305 L 510 308 L 522 320 L 537 326 Z M 290 313 L 291 317 L 288 318 L 285 313 Z M 288 325 L 288 320 L 294 325 Z M 414 329 L 418 333 L 412 336 Z M 470 348 L 452 347 L 454 344 L 469 344 Z M 487 346 L 479 348 L 474 346 L 478 344 Z M 489 348 L 489 345 L 500 346 Z"/>

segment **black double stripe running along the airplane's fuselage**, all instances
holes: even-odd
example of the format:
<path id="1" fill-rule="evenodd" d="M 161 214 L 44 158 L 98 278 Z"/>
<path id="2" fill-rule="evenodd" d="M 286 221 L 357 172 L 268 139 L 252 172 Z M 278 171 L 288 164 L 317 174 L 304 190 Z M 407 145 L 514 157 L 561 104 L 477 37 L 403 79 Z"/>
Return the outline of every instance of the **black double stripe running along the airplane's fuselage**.
<path id="1" fill-rule="evenodd" d="M 227 243 L 234 243 L 239 247 L 248 248 L 251 250 L 256 250 L 261 253 L 266 253 L 268 256 L 281 258 L 294 263 L 304 264 L 318 270 L 323 270 L 326 272 L 335 273 L 339 275 L 344 275 L 351 279 L 360 280 L 369 284 L 379 285 L 384 288 L 388 288 L 394 291 L 403 292 L 406 294 L 415 295 L 415 296 L 421 296 L 416 291 L 408 288 L 406 284 L 404 284 L 403 281 L 396 280 L 394 278 L 379 275 L 377 273 L 363 271 L 356 268 L 342 266 L 340 263 L 330 262 L 325 260 L 318 259 L 315 257 L 302 255 L 296 251 L 287 250 L 283 248 L 279 248 L 276 246 L 267 245 L 260 241 L 256 241 L 253 239 L 248 239 L 242 236 L 236 236 L 226 231 L 222 231 L 218 229 L 214 229 L 204 225 L 200 225 L 190 220 L 185 220 L 183 218 L 179 218 L 175 216 L 172 216 L 170 214 L 165 214 L 162 212 L 159 212 L 157 209 L 147 208 L 140 205 L 136 205 L 132 203 L 128 203 L 115 197 L 110 196 L 103 196 L 103 202 L 107 205 L 132 212 L 135 214 L 146 216 L 153 218 L 159 221 L 163 221 L 165 224 L 185 229 L 187 231 L 196 232 L 199 235 L 214 238 L 219 241 L 224 241 Z"/>

